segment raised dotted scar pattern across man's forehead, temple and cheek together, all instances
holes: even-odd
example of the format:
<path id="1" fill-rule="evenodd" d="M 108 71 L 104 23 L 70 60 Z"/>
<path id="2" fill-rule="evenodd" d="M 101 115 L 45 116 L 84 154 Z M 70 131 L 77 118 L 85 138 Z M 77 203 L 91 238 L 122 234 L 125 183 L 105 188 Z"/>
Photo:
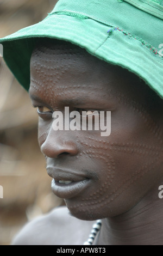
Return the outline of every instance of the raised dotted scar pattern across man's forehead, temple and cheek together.
<path id="1" fill-rule="evenodd" d="M 45 48 L 45 51 L 40 50 L 39 52 L 39 50 L 37 50 L 36 53 L 40 56 L 42 52 L 45 57 L 46 50 L 47 48 Z M 73 93 L 76 93 L 76 91 L 80 93 L 80 89 L 86 89 L 86 86 L 80 86 L 78 84 L 73 84 L 72 86 L 70 84 L 68 86 L 66 84 L 61 85 L 62 76 L 66 76 L 66 72 L 68 74 L 68 70 L 70 69 L 72 54 L 80 55 L 79 52 L 74 53 L 74 49 L 70 50 L 69 47 L 67 49 L 67 54 L 66 51 L 63 52 L 62 47 L 61 50 L 59 48 L 58 53 L 55 51 L 55 65 L 53 65 L 52 68 L 49 64 L 50 62 L 54 63 L 54 60 L 49 58 L 49 53 L 47 53 L 47 62 L 45 61 L 45 65 L 42 64 L 41 59 L 39 62 L 39 57 L 35 60 L 34 68 L 36 75 L 38 78 L 41 78 L 42 82 L 38 83 L 36 80 L 34 81 L 32 79 L 31 85 L 36 91 L 40 91 L 41 93 L 43 92 L 45 99 L 51 106 L 55 106 L 57 104 L 57 99 L 62 99 L 62 96 L 68 97 L 70 95 L 70 98 L 72 98 Z M 57 55 L 59 56 L 58 58 Z M 73 65 L 75 66 L 76 64 L 76 61 L 73 61 Z M 98 90 L 98 88 L 96 89 Z M 101 90 L 100 87 L 99 90 Z M 80 157 L 82 159 L 82 156 L 84 156 L 88 161 L 97 161 L 99 166 L 100 163 L 103 162 L 105 169 L 107 169 L 107 172 L 103 169 L 99 170 L 99 172 L 104 173 L 105 175 L 105 177 L 102 178 L 101 187 L 98 187 L 95 192 L 87 194 L 87 197 L 83 197 L 82 203 L 78 203 L 72 207 L 71 205 L 68 206 L 70 211 L 71 208 L 72 210 L 76 208 L 76 210 L 80 212 L 86 212 L 87 206 L 89 206 L 89 209 L 92 211 L 92 213 L 90 212 L 89 214 L 90 217 L 91 215 L 93 217 L 93 210 L 102 208 L 103 206 L 109 208 L 109 203 L 118 198 L 123 192 L 126 193 L 131 185 L 133 186 L 136 184 L 136 182 L 141 180 L 143 176 L 145 176 L 144 179 L 146 179 L 148 173 L 152 173 L 155 169 L 162 166 L 162 130 L 152 118 L 146 103 L 143 103 L 142 105 L 138 103 L 137 100 L 134 100 L 135 98 L 133 96 L 127 96 L 123 93 L 117 92 L 117 90 L 108 89 L 108 95 L 109 94 L 117 100 L 117 103 L 123 103 L 124 106 L 126 105 L 132 109 L 137 116 L 139 116 L 146 127 L 149 140 L 147 141 L 146 139 L 143 141 L 142 139 L 141 141 L 139 139 L 136 141 L 136 138 L 133 138 L 132 141 L 131 139 L 130 141 L 127 141 L 127 139 L 123 141 L 123 138 L 120 140 L 117 138 L 116 141 L 116 139 L 112 140 L 111 136 L 107 138 L 98 138 L 93 135 L 83 140 L 79 135 L 77 135 L 77 133 L 74 133 L 74 137 L 77 135 L 76 143 L 82 146 L 82 151 L 80 151 L 78 156 L 74 156 L 74 159 L 80 159 Z M 112 132 L 114 133 L 114 131 Z M 48 132 L 40 135 L 40 141 L 45 141 L 47 135 Z M 151 140 L 151 138 L 153 139 Z M 154 145 L 152 142 L 154 142 Z M 139 159 L 140 165 L 131 171 L 128 170 L 124 179 L 117 184 L 115 183 L 115 186 L 114 182 L 117 178 L 116 175 L 120 172 L 120 164 L 117 163 L 117 158 L 118 156 L 121 158 L 121 155 L 128 157 L 128 159 L 131 157 Z M 117 170 L 117 168 L 119 169 Z M 110 186 L 112 184 L 113 186 L 110 190 Z"/>

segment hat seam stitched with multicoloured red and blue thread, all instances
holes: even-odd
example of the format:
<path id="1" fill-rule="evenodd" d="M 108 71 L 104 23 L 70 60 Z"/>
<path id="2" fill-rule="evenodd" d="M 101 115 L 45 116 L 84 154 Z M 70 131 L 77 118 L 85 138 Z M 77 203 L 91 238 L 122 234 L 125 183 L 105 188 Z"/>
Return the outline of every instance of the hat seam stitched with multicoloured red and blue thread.
<path id="1" fill-rule="evenodd" d="M 151 44 L 149 44 L 149 43 L 146 42 L 145 40 L 139 38 L 139 36 L 133 35 L 133 34 L 127 32 L 127 31 L 125 31 L 124 29 L 121 29 L 121 28 L 119 28 L 119 27 L 115 27 L 115 28 L 109 29 L 109 31 L 108 31 L 109 35 L 111 35 L 111 33 L 114 32 L 114 31 L 120 31 L 120 32 L 122 32 L 124 35 L 127 35 L 129 38 L 133 38 L 133 39 L 135 39 L 135 40 L 140 41 L 140 42 L 142 43 L 142 45 L 144 45 L 146 48 L 148 48 L 148 50 L 153 51 L 155 55 L 159 55 L 159 50 L 158 50 L 158 49 L 156 49 L 155 47 L 153 47 Z M 161 62 L 159 62 L 159 63 L 161 63 Z M 161 64 L 162 64 L 162 63 L 161 63 Z"/>

